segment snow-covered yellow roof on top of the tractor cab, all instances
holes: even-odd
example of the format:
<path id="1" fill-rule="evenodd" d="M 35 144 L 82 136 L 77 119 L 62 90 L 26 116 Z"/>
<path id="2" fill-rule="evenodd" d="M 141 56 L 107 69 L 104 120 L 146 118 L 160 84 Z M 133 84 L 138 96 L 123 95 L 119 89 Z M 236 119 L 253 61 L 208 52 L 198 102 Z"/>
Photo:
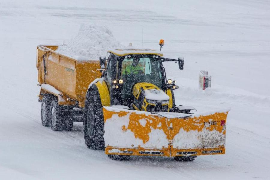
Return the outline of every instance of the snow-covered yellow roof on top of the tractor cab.
<path id="1" fill-rule="evenodd" d="M 159 51 L 152 50 L 152 49 L 136 48 L 136 47 L 133 47 L 131 43 L 125 48 L 110 49 L 110 50 L 108 50 L 108 52 L 113 53 L 117 56 L 125 56 L 128 54 L 154 54 L 154 55 L 158 55 L 158 56 L 163 56 L 163 54 Z"/>

